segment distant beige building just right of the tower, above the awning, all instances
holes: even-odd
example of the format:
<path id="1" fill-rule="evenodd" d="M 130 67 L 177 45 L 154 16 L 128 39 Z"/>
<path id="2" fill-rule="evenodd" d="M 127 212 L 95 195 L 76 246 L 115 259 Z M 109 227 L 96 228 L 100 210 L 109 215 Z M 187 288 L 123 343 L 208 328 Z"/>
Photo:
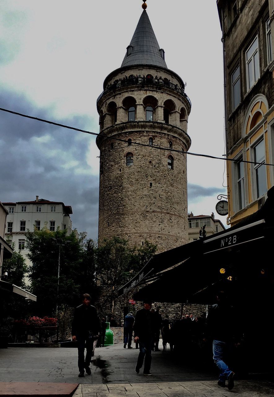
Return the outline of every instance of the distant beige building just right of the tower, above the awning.
<path id="1" fill-rule="evenodd" d="M 195 241 L 199 239 L 200 229 L 205 225 L 205 231 L 207 236 L 210 236 L 220 231 L 225 230 L 224 225 L 218 219 L 214 218 L 212 212 L 211 215 L 196 215 L 192 212 L 188 214 L 188 241 Z"/>

